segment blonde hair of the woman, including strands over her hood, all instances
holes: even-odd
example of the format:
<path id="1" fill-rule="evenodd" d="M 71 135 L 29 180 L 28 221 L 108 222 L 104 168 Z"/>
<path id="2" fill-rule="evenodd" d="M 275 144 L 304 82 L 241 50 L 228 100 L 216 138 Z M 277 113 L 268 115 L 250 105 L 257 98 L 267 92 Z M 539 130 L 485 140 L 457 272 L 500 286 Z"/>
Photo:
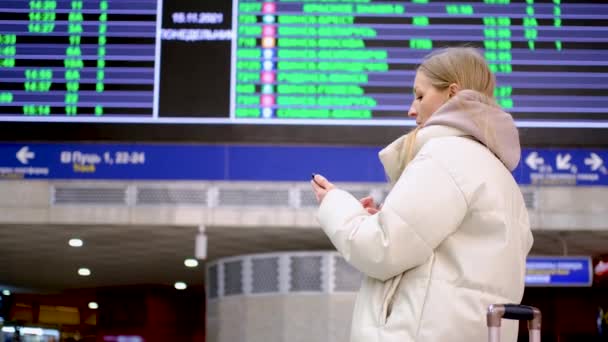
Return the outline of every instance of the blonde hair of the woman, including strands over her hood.
<path id="1" fill-rule="evenodd" d="M 494 100 L 494 88 L 496 77 L 490 70 L 484 57 L 472 47 L 449 47 L 440 49 L 427 55 L 417 72 L 423 73 L 431 82 L 431 85 L 439 90 L 447 89 L 451 84 L 458 85 L 459 90 L 471 89 L 485 95 L 484 102 L 496 105 Z M 490 125 L 485 123 L 487 117 L 483 113 L 471 113 L 486 134 Z M 416 136 L 421 126 L 416 127 L 406 137 L 406 142 L 401 151 L 400 173 L 414 158 Z"/>

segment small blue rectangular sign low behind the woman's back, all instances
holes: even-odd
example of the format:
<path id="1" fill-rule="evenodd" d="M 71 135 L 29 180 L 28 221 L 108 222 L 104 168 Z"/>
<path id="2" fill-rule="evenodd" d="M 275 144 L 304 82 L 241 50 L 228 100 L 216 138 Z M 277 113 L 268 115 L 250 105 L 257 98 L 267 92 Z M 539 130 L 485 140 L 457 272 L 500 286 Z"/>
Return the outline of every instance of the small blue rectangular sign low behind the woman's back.
<path id="1" fill-rule="evenodd" d="M 528 257 L 526 286 L 591 286 L 589 257 Z"/>

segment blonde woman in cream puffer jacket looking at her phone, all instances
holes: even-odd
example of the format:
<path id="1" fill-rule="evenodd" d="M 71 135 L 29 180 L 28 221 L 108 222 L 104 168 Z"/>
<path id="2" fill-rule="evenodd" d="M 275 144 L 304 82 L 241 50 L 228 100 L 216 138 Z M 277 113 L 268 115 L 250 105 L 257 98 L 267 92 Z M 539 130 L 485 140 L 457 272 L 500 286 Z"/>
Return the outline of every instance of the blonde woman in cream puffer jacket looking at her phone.
<path id="1" fill-rule="evenodd" d="M 393 185 L 381 209 L 313 177 L 323 230 L 366 275 L 351 341 L 482 342 L 488 305 L 521 301 L 533 239 L 510 172 L 519 135 L 494 86 L 475 49 L 422 62 L 408 113 L 417 127 L 379 154 Z M 504 322 L 502 341 L 517 328 Z"/>

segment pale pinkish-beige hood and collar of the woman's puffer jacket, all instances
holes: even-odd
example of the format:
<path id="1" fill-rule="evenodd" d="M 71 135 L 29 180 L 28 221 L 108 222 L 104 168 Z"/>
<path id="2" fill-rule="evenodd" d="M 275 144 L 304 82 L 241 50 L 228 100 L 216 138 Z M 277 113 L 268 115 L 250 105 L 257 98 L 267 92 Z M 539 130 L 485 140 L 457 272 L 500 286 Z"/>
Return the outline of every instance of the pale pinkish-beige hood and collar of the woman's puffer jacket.
<path id="1" fill-rule="evenodd" d="M 510 171 L 517 167 L 521 157 L 519 133 L 511 114 L 474 90 L 459 91 L 437 109 L 418 131 L 413 153 L 431 138 L 440 136 L 472 137 L 490 149 Z M 379 153 L 391 182 L 400 176 L 396 173 L 406 157 L 401 152 L 406 140 L 407 135 L 402 136 Z"/>

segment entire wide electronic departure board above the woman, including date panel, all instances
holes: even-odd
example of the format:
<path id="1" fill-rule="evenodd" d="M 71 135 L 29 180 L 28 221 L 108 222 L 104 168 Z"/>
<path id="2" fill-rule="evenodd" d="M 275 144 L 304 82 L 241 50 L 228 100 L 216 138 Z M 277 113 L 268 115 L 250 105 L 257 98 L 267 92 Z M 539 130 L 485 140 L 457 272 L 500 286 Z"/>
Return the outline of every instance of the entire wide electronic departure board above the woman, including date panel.
<path id="1" fill-rule="evenodd" d="M 608 2 L 0 0 L 0 120 L 411 126 L 479 49 L 522 127 L 608 128 Z"/>

